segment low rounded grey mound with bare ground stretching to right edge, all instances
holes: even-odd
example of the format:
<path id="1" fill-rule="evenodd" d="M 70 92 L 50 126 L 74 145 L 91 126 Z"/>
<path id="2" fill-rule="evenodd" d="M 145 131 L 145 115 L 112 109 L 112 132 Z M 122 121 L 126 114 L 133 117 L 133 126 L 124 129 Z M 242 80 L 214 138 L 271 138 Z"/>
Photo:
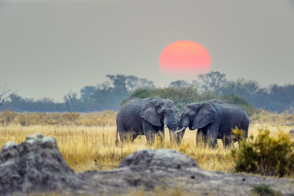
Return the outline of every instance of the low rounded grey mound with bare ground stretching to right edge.
<path id="1" fill-rule="evenodd" d="M 116 169 L 81 175 L 104 187 L 104 194 L 129 194 L 178 188 L 195 195 L 251 195 L 253 186 L 264 183 L 285 195 L 293 195 L 294 179 L 210 172 L 200 169 L 189 156 L 171 149 L 138 150 Z"/>

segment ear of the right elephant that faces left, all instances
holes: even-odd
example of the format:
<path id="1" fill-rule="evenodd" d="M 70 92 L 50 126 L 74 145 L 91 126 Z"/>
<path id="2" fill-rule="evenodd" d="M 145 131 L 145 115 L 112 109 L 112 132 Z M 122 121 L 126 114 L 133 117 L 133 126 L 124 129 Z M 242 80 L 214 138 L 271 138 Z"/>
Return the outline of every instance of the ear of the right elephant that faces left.
<path id="1" fill-rule="evenodd" d="M 192 129 L 200 129 L 215 120 L 215 108 L 210 103 L 201 103 L 193 121 Z"/>

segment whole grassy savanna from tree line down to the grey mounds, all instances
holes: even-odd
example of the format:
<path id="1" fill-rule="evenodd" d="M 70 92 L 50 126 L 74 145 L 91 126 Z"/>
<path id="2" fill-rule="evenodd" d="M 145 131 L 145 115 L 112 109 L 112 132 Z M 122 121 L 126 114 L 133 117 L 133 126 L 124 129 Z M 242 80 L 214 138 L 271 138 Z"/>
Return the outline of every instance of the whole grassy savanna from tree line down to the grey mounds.
<path id="1" fill-rule="evenodd" d="M 205 145 L 196 147 L 197 131 L 186 130 L 181 145 L 174 146 L 169 142 L 169 131 L 165 130 L 162 144 L 156 141 L 147 145 L 145 136 L 138 136 L 133 143 L 116 141 L 116 112 L 99 113 L 2 113 L 0 129 L 0 147 L 5 142 L 22 142 L 28 134 L 40 132 L 45 136 L 55 137 L 57 145 L 69 166 L 75 172 L 88 170 L 113 169 L 122 159 L 139 149 L 172 148 L 193 157 L 200 168 L 210 171 L 234 172 L 234 161 L 231 149 L 224 149 L 218 140 L 216 149 Z M 44 120 L 45 119 L 45 120 Z M 97 125 L 94 125 L 97 124 Z M 258 120 L 252 120 L 249 135 L 254 137 L 258 129 L 268 128 L 271 135 L 278 132 L 289 133 L 294 126 L 293 111 L 276 112 L 262 111 Z M 238 144 L 234 144 L 238 147 Z"/>

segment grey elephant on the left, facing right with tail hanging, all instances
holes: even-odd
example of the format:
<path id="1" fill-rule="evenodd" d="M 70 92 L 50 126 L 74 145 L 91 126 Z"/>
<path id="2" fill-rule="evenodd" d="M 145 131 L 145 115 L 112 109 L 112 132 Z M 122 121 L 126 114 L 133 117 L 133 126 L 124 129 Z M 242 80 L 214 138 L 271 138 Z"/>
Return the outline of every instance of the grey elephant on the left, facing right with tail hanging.
<path id="1" fill-rule="evenodd" d="M 122 104 L 116 115 L 116 144 L 117 133 L 124 142 L 127 137 L 134 141 L 138 135 L 145 135 L 148 144 L 155 141 L 155 135 L 164 140 L 164 127 L 169 128 L 171 142 L 176 138 L 180 143 L 181 135 L 175 137 L 179 119 L 176 116 L 177 108 L 172 100 L 153 96 L 145 99 L 132 97 Z"/>

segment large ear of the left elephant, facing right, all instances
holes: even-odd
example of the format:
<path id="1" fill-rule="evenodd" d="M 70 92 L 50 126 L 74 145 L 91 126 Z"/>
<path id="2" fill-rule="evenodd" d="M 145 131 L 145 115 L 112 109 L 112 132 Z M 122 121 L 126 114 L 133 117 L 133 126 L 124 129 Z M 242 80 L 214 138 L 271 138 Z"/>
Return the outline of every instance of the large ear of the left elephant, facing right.
<path id="1" fill-rule="evenodd" d="M 154 126 L 161 126 L 160 118 L 157 114 L 157 108 L 154 105 L 154 100 L 150 100 L 143 105 L 140 116 Z"/>

